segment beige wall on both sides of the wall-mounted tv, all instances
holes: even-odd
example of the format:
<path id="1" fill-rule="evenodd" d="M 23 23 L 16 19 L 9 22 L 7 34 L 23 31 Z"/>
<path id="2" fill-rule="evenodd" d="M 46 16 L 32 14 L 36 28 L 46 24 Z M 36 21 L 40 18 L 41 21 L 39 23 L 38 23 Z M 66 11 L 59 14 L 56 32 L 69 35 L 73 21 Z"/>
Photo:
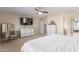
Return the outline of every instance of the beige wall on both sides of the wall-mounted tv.
<path id="1" fill-rule="evenodd" d="M 14 24 L 15 30 L 19 31 L 20 29 L 20 21 L 19 17 L 21 15 L 16 15 L 14 13 L 6 13 L 6 12 L 0 12 L 0 23 L 11 23 Z M 33 17 L 34 23 L 33 27 L 35 28 L 35 34 L 39 34 L 39 18 Z"/>

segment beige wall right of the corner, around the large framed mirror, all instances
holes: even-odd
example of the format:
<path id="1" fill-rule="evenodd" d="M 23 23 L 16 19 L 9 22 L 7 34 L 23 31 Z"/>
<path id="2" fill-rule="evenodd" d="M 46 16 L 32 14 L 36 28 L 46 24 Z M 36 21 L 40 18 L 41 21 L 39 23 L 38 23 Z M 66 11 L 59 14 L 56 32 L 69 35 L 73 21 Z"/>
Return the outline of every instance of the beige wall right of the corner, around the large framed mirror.
<path id="1" fill-rule="evenodd" d="M 79 12 L 69 12 L 64 16 L 64 29 L 67 35 L 71 35 L 71 20 L 79 20 Z"/>

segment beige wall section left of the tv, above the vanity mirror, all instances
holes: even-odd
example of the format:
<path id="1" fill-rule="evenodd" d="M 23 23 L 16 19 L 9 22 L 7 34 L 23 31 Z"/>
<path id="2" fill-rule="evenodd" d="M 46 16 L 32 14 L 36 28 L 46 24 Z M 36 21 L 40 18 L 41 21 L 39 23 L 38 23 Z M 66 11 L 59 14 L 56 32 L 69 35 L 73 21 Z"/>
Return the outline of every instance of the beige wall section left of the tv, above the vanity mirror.
<path id="1" fill-rule="evenodd" d="M 14 14 L 0 12 L 0 23 L 14 24 L 16 31 L 19 30 L 20 27 L 19 16 Z"/>

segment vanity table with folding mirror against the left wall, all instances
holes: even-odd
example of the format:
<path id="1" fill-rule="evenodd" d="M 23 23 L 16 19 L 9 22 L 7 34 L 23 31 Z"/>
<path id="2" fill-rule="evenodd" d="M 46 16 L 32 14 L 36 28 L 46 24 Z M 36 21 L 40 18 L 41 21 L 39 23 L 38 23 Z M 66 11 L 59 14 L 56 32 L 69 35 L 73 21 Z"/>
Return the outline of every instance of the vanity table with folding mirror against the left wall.
<path id="1" fill-rule="evenodd" d="M 14 29 L 14 24 L 1 24 L 1 42 L 11 39 L 15 39 L 18 36 L 18 33 Z"/>

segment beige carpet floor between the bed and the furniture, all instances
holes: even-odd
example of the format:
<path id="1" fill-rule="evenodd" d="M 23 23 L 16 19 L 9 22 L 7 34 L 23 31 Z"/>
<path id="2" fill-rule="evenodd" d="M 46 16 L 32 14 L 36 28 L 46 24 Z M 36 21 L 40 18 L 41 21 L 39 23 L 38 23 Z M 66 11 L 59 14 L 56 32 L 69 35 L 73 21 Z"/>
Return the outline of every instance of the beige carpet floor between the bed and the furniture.
<path id="1" fill-rule="evenodd" d="M 9 40 L 8 42 L 3 42 L 2 44 L 0 44 L 0 52 L 20 52 L 20 49 L 25 42 L 42 36 L 45 35 L 34 35 L 26 38 L 20 38 L 16 40 Z"/>

